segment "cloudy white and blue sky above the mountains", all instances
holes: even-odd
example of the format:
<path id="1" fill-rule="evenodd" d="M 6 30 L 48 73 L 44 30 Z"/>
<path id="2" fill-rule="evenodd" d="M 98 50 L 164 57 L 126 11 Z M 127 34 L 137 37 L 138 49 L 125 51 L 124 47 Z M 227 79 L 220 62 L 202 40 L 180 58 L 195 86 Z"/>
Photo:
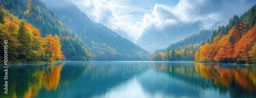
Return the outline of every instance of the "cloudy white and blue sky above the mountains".
<path id="1" fill-rule="evenodd" d="M 225 25 L 233 15 L 241 16 L 254 0 L 69 0 L 96 23 L 132 42 L 144 29 L 155 25 L 188 24 L 201 20 L 203 29 Z"/>

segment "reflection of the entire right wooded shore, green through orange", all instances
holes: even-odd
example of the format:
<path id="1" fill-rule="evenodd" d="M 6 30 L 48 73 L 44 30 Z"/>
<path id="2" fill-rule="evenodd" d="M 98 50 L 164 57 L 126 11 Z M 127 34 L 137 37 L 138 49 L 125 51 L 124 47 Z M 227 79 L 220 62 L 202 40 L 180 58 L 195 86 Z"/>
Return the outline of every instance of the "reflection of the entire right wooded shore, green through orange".
<path id="1" fill-rule="evenodd" d="M 221 93 L 230 91 L 232 97 L 252 97 L 256 92 L 256 68 L 224 67 L 218 64 L 195 63 L 194 66 L 178 63 L 153 63 L 158 72 L 196 87 L 204 87 L 204 80 Z M 202 80 L 202 78 L 204 80 Z M 198 83 L 196 83 L 196 82 Z"/>

